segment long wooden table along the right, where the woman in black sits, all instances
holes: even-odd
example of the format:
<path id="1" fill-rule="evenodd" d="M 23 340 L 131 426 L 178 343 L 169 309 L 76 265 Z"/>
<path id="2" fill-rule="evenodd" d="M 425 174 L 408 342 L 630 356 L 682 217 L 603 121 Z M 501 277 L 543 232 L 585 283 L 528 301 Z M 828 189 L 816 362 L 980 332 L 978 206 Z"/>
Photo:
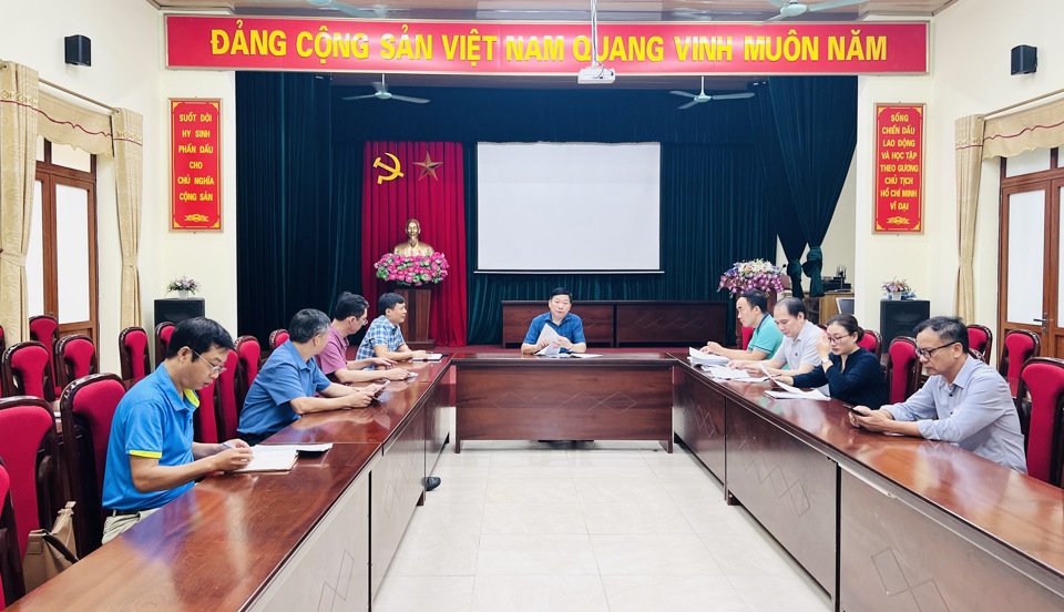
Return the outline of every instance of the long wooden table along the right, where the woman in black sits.
<path id="1" fill-rule="evenodd" d="M 1064 490 L 678 364 L 676 436 L 837 610 L 1064 609 Z"/>

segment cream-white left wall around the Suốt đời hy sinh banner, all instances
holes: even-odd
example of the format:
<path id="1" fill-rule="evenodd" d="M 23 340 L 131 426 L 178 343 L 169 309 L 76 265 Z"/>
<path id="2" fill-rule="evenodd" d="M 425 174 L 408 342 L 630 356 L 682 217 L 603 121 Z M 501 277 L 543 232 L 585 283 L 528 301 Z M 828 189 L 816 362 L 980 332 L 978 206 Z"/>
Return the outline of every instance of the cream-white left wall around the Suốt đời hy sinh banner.
<path id="1" fill-rule="evenodd" d="M 235 86 L 232 73 L 167 72 L 162 14 L 144 0 L 0 0 L 0 59 L 23 63 L 41 79 L 111 106 L 144 115 L 144 208 L 141 226 L 141 289 L 144 326 L 168 278 L 186 274 L 204 285 L 207 316 L 236 335 Z M 63 37 L 92 40 L 92 65 L 66 65 Z M 44 91 L 55 93 L 47 85 Z M 168 96 L 221 98 L 224 113 L 221 234 L 168 231 Z M 93 110 L 105 112 L 102 109 Z M 119 371 L 120 251 L 114 167 L 99 160 L 96 177 L 100 259 L 100 367 Z"/>

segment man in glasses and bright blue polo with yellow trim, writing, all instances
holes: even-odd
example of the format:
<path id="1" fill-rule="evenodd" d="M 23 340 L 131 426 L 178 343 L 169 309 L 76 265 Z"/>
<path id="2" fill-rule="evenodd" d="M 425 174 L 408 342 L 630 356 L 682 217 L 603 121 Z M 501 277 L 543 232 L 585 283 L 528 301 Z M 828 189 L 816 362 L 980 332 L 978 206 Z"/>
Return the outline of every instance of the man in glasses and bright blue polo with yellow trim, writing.
<path id="1" fill-rule="evenodd" d="M 103 542 L 130 529 L 213 471 L 247 465 L 243 440 L 221 445 L 192 441 L 198 389 L 225 371 L 233 338 L 208 318 L 183 320 L 174 328 L 166 358 L 119 401 L 111 422 L 103 477 Z"/>

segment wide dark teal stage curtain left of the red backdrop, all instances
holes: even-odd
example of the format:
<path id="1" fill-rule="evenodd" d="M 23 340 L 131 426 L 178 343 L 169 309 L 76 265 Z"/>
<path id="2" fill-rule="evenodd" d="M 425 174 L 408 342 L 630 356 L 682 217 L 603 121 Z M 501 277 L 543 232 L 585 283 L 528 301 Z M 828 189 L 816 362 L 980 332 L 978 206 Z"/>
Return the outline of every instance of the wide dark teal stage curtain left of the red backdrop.
<path id="1" fill-rule="evenodd" d="M 358 287 L 357 202 L 332 185 L 360 185 L 361 163 L 334 171 L 330 110 L 327 78 L 236 74 L 238 333 L 260 341 Z"/>

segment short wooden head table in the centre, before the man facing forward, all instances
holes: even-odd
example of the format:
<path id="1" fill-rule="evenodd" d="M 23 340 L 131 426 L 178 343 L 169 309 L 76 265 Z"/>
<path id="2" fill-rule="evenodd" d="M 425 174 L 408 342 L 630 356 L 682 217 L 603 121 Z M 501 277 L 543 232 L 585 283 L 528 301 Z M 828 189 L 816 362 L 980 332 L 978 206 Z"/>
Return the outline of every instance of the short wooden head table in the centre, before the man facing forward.
<path id="1" fill-rule="evenodd" d="M 672 452 L 674 363 L 661 353 L 454 355 L 454 452 L 466 440 L 658 440 Z"/>

